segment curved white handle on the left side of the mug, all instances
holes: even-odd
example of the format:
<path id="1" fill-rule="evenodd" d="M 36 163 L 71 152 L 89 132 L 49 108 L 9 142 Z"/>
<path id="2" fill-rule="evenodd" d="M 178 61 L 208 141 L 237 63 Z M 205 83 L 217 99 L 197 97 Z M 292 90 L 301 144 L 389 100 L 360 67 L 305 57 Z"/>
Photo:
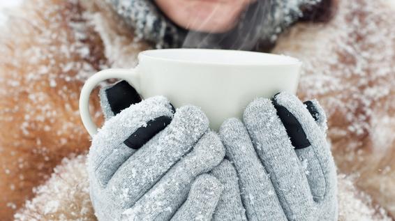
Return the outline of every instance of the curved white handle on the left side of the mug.
<path id="1" fill-rule="evenodd" d="M 94 74 L 92 77 L 89 77 L 89 79 L 87 79 L 87 82 L 85 82 L 84 86 L 82 87 L 79 105 L 82 123 L 84 124 L 84 127 L 87 129 L 91 137 L 96 135 L 96 133 L 98 132 L 98 128 L 96 127 L 96 124 L 94 123 L 91 114 L 89 113 L 89 96 L 100 82 L 112 78 L 124 79 L 135 88 L 137 93 L 138 91 L 140 91 L 140 86 L 138 84 L 140 82 L 140 77 L 136 71 L 136 68 L 101 70 L 98 73 Z"/>

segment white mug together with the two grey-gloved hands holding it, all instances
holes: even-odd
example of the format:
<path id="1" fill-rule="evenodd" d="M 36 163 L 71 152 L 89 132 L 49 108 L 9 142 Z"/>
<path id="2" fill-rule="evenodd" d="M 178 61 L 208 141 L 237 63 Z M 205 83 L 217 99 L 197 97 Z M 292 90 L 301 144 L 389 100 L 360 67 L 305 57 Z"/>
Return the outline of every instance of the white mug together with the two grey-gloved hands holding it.
<path id="1" fill-rule="evenodd" d="M 300 66 L 274 54 L 161 49 L 88 79 L 80 114 L 93 137 L 98 220 L 337 220 L 325 113 L 292 95 Z M 110 78 L 125 81 L 101 90 L 97 130 L 89 94 Z"/>

